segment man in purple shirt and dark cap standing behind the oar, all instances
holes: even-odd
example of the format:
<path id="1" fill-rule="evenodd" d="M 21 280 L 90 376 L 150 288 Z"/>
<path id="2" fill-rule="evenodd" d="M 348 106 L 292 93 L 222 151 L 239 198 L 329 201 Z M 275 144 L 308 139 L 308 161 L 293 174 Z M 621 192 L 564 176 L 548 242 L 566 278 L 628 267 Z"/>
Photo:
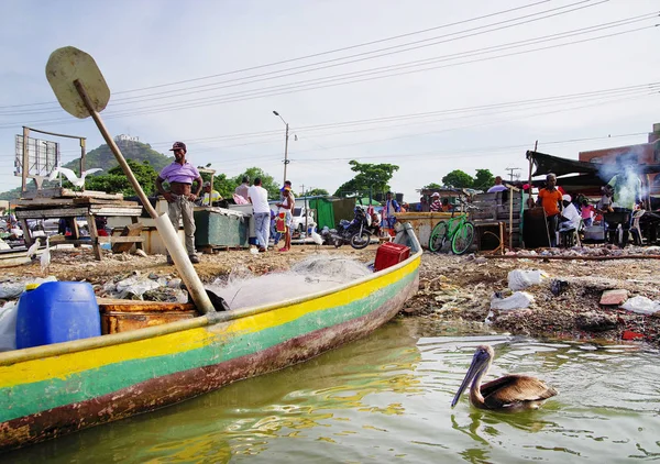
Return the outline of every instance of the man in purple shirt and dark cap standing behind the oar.
<path id="1" fill-rule="evenodd" d="M 178 230 L 179 219 L 184 220 L 184 233 L 186 235 L 186 250 L 191 263 L 199 263 L 195 254 L 195 219 L 193 207 L 201 191 L 201 176 L 195 166 L 186 161 L 186 144 L 175 142 L 169 148 L 174 152 L 174 162 L 163 168 L 156 178 L 156 189 L 167 200 L 167 216 Z M 167 180 L 169 190 L 165 190 L 163 183 Z M 193 184 L 197 183 L 195 188 Z M 167 255 L 167 263 L 174 264 L 172 256 Z"/>

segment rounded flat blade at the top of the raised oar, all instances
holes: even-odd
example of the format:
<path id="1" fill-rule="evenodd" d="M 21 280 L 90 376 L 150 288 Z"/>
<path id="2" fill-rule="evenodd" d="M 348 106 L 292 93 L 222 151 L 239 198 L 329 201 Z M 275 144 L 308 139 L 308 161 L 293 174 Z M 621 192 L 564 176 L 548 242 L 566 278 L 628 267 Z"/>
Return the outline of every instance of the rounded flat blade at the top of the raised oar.
<path id="1" fill-rule="evenodd" d="M 76 90 L 75 80 L 85 86 L 96 111 L 103 111 L 110 100 L 110 89 L 94 58 L 73 46 L 57 48 L 51 54 L 46 64 L 46 79 L 62 108 L 79 119 L 90 114 Z"/>

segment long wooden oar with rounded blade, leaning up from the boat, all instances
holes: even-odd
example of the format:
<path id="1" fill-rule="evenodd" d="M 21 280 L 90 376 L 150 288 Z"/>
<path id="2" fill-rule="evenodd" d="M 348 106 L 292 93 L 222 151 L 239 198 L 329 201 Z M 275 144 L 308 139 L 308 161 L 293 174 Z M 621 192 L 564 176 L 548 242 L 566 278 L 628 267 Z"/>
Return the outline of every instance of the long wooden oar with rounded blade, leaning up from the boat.
<path id="1" fill-rule="evenodd" d="M 190 297 L 195 306 L 205 314 L 215 311 L 207 290 L 195 272 L 195 267 L 190 263 L 184 245 L 178 240 L 169 218 L 166 214 L 158 217 L 156 210 L 151 206 L 138 179 L 135 179 L 131 167 L 101 120 L 99 112 L 103 111 L 110 100 L 110 89 L 94 58 L 87 53 L 72 46 L 58 48 L 48 58 L 46 78 L 59 104 L 66 112 L 79 119 L 89 117 L 94 119 L 106 143 L 114 154 L 117 162 L 140 197 L 144 209 L 155 219 L 156 229 L 163 237 L 163 242 L 174 259 L 182 279 L 190 291 Z"/>

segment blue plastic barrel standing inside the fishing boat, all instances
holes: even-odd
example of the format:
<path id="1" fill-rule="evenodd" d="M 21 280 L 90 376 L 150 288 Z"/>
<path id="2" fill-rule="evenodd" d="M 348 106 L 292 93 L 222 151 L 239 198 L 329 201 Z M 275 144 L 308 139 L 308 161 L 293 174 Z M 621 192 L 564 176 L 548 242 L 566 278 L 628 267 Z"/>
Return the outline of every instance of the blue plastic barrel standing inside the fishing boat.
<path id="1" fill-rule="evenodd" d="M 16 347 L 48 345 L 101 334 L 99 305 L 86 281 L 47 281 L 19 300 Z"/>

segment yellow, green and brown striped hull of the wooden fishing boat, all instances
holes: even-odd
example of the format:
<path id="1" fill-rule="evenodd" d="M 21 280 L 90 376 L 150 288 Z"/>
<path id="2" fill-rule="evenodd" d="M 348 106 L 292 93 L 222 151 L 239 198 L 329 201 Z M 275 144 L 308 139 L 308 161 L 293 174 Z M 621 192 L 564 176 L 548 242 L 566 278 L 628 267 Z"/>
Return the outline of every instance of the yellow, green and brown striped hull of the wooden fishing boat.
<path id="1" fill-rule="evenodd" d="M 421 247 L 410 227 L 397 241 L 410 257 L 328 291 L 0 353 L 0 450 L 152 411 L 366 335 L 417 291 Z"/>

